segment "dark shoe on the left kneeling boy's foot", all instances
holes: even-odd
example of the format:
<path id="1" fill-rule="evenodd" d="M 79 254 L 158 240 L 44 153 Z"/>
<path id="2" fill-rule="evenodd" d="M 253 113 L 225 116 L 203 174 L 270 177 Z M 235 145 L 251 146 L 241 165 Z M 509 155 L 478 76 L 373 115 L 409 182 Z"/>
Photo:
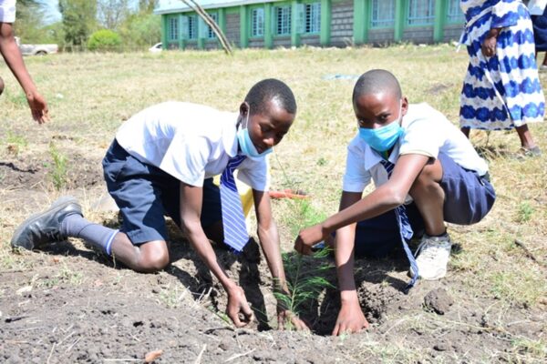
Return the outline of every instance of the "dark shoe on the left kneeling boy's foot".
<path id="1" fill-rule="evenodd" d="M 68 215 L 82 215 L 82 207 L 77 199 L 70 196 L 60 197 L 46 211 L 28 217 L 17 229 L 11 241 L 13 248 L 32 250 L 55 241 L 66 240 L 61 234 L 61 222 Z"/>

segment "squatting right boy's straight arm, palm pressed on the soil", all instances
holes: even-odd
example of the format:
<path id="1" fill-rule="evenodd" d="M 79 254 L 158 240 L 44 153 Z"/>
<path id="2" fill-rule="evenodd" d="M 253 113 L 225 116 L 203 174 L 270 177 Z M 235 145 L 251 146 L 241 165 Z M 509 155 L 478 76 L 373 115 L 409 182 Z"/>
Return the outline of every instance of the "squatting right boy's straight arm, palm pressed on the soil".
<path id="1" fill-rule="evenodd" d="M 361 199 L 361 193 L 342 192 L 340 210 L 356 204 Z M 354 247 L 356 239 L 356 224 L 350 224 L 336 230 L 335 264 L 340 289 L 341 307 L 338 311 L 333 335 L 345 332 L 357 332 L 368 327 L 357 298 L 356 281 L 354 278 Z"/>

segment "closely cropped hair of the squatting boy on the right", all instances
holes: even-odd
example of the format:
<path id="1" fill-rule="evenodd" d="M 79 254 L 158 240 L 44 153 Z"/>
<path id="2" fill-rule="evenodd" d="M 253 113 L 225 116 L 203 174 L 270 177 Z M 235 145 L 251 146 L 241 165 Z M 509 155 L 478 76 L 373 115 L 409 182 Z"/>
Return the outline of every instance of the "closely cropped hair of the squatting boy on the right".
<path id="1" fill-rule="evenodd" d="M 357 79 L 353 102 L 355 104 L 359 96 L 375 95 L 381 92 L 391 93 L 397 98 L 403 95 L 396 76 L 385 69 L 371 69 Z"/>

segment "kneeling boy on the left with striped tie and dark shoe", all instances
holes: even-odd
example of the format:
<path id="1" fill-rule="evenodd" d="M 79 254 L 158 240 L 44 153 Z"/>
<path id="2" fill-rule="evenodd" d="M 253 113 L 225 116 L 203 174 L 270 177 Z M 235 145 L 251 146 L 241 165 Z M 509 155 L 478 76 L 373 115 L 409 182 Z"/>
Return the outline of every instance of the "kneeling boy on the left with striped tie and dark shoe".
<path id="1" fill-rule="evenodd" d="M 295 114 L 291 89 L 276 79 L 254 85 L 239 114 L 180 102 L 150 106 L 119 128 L 103 159 L 108 192 L 120 208 L 122 227 L 92 224 L 73 197 L 62 197 L 22 223 L 12 246 L 33 249 L 67 237 L 83 238 L 129 268 L 153 272 L 170 262 L 164 220 L 168 215 L 222 283 L 228 293 L 227 314 L 242 327 L 253 319 L 253 311 L 243 289 L 219 265 L 208 237 L 239 251 L 249 238 L 232 177 L 237 168 L 238 178 L 253 187 L 258 237 L 275 289 L 288 292 L 267 193 L 265 156 L 283 139 Z M 220 190 L 212 184 L 212 177 L 219 174 Z M 232 193 L 226 192 L 230 188 Z M 285 320 L 305 329 L 280 303 L 278 322 L 284 325 Z"/>

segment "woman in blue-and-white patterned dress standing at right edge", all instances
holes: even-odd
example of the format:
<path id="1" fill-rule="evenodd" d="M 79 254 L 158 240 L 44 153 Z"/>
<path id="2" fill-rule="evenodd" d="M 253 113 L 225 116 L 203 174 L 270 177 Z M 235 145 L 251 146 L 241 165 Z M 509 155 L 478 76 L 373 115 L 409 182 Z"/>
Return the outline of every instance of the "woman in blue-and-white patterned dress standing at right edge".
<path id="1" fill-rule="evenodd" d="M 462 44 L 470 65 L 461 91 L 459 125 L 517 130 L 522 151 L 539 156 L 527 123 L 542 121 L 545 98 L 535 61 L 532 21 L 520 0 L 461 0 Z"/>

